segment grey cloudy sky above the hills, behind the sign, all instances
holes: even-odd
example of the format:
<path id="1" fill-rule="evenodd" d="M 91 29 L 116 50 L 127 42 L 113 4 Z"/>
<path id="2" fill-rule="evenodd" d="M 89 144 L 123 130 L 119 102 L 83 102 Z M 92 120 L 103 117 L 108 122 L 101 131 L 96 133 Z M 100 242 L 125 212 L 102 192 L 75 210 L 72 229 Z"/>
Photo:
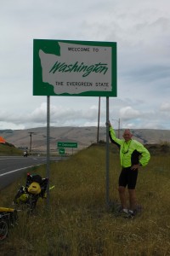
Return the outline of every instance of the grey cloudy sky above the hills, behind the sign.
<path id="1" fill-rule="evenodd" d="M 169 0 L 1 0 L 0 29 L 0 130 L 46 126 L 47 97 L 32 96 L 34 38 L 116 42 L 112 124 L 170 129 Z M 97 125 L 98 109 L 99 97 L 51 96 L 50 125 Z"/>

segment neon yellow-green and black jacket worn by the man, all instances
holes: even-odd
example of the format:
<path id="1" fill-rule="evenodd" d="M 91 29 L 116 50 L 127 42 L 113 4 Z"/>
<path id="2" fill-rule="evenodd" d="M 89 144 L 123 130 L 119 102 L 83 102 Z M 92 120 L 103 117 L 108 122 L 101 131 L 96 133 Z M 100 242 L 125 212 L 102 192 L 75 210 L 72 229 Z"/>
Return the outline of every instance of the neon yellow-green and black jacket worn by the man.
<path id="1" fill-rule="evenodd" d="M 131 139 L 125 142 L 124 139 L 116 137 L 116 133 L 112 127 L 110 127 L 110 139 L 111 143 L 115 143 L 120 148 L 120 160 L 122 167 L 130 167 L 140 164 L 146 166 L 150 160 L 150 152 L 144 148 L 144 146 Z"/>

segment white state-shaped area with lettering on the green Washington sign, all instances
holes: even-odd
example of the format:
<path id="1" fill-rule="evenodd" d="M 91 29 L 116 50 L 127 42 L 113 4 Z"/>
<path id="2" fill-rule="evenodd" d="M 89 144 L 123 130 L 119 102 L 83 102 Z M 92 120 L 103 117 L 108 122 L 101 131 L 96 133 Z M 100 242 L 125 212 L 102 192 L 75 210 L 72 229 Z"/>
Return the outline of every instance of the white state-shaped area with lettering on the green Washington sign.
<path id="1" fill-rule="evenodd" d="M 62 42 L 58 44 L 60 55 L 39 50 L 42 81 L 53 85 L 55 94 L 112 90 L 111 47 Z M 71 67 L 75 67 L 77 72 L 71 70 Z M 82 71 L 79 71 L 81 67 Z"/>

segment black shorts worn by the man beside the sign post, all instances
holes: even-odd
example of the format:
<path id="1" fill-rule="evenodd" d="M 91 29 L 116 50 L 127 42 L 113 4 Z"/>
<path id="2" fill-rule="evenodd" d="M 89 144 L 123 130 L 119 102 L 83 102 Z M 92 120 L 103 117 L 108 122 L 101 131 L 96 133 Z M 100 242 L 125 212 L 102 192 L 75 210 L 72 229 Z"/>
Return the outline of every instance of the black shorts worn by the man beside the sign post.
<path id="1" fill-rule="evenodd" d="M 119 176 L 119 186 L 127 186 L 127 189 L 135 189 L 137 177 L 138 169 L 131 170 L 131 167 L 122 168 L 122 172 Z"/>

